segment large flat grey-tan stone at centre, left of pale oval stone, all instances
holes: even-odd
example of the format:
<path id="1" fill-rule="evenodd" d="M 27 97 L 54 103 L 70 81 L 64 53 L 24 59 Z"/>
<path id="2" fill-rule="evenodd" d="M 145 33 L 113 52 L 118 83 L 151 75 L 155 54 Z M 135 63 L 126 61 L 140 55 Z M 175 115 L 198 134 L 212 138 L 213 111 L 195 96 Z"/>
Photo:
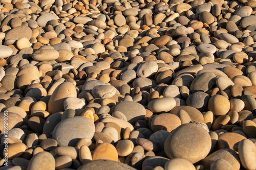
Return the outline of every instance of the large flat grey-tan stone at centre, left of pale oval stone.
<path id="1" fill-rule="evenodd" d="M 138 120 L 144 119 L 146 114 L 145 108 L 137 103 L 124 101 L 115 105 L 113 112 L 120 111 L 127 118 L 127 122 L 134 125 Z"/>

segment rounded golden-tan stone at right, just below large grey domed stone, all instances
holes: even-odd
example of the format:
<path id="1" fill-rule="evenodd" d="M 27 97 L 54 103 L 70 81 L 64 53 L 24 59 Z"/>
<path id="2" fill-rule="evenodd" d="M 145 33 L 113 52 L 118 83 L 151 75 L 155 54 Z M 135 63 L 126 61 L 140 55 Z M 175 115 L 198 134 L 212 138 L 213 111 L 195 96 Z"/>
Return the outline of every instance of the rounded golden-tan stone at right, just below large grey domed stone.
<path id="1" fill-rule="evenodd" d="M 227 114 L 230 109 L 230 103 L 225 96 L 216 94 L 211 96 L 208 102 L 208 109 L 212 111 L 215 116 Z"/>

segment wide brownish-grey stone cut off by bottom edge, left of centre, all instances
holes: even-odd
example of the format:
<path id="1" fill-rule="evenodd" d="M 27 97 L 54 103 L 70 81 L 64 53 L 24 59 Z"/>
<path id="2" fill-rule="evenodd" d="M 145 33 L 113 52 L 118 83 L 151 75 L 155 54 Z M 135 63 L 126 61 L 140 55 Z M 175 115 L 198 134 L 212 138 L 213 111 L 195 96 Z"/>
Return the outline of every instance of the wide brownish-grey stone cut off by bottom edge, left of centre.
<path id="1" fill-rule="evenodd" d="M 135 170 L 132 166 L 129 166 L 127 164 L 103 159 L 103 160 L 93 160 L 89 163 L 83 164 L 78 168 L 78 170 L 86 170 L 86 169 L 97 169 L 102 168 L 105 170 L 112 170 L 112 169 L 123 169 L 123 170 Z"/>

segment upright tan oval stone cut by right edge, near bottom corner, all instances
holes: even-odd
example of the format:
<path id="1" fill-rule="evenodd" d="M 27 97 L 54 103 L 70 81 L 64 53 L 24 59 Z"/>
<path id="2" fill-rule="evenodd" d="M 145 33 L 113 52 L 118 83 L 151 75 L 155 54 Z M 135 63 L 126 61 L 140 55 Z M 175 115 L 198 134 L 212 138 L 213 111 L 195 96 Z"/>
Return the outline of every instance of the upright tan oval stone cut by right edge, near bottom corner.
<path id="1" fill-rule="evenodd" d="M 238 144 L 239 158 L 246 169 L 255 169 L 256 147 L 249 139 L 243 139 Z"/>

